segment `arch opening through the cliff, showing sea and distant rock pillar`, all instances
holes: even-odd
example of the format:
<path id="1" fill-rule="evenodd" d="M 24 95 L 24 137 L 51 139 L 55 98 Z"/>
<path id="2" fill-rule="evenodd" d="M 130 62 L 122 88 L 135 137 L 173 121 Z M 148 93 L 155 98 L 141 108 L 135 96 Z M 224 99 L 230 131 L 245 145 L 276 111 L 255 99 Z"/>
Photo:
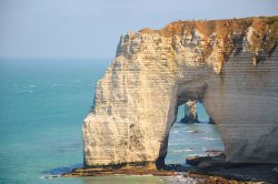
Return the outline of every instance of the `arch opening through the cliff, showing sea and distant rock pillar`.
<path id="1" fill-rule="evenodd" d="M 187 165 L 188 157 L 219 155 L 224 147 L 217 125 L 201 102 L 188 100 L 178 105 L 177 117 L 169 132 L 166 165 Z"/>

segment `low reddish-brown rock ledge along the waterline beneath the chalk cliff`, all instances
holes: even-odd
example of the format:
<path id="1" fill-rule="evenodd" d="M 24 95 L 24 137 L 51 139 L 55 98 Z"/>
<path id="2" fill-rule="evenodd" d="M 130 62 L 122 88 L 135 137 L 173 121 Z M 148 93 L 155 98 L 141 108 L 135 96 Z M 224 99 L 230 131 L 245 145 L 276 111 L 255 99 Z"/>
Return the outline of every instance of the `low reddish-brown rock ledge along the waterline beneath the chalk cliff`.
<path id="1" fill-rule="evenodd" d="M 188 168 L 185 168 L 188 170 Z M 153 176 L 171 176 L 169 183 L 196 183 L 196 184 L 275 184 L 274 178 L 268 176 L 249 178 L 244 175 L 235 175 L 238 168 L 234 168 L 235 173 L 229 173 L 231 170 L 227 170 L 226 174 L 222 171 L 206 173 L 202 171 L 190 172 L 176 172 L 166 170 L 91 170 L 91 168 L 76 168 L 71 173 L 66 173 L 62 177 L 81 177 L 81 176 L 107 176 L 107 175 L 153 175 Z M 229 174 L 228 174 L 229 173 Z M 250 172 L 249 172 L 250 173 Z M 255 178 L 255 180 L 254 180 Z M 190 182 L 191 181 L 191 182 Z"/>

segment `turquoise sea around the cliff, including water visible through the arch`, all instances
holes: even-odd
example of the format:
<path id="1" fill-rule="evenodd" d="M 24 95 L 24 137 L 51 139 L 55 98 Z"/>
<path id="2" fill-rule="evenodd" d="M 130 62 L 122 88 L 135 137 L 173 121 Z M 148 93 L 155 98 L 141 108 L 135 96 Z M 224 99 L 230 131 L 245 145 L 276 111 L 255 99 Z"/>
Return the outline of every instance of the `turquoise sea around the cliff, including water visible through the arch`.
<path id="1" fill-rule="evenodd" d="M 97 81 L 112 59 L 0 59 L 0 183 L 171 183 L 159 176 L 59 177 L 82 167 L 82 121 L 93 105 Z M 179 108 L 167 164 L 224 150 L 216 125 L 198 103 L 205 123 L 182 124 Z"/>

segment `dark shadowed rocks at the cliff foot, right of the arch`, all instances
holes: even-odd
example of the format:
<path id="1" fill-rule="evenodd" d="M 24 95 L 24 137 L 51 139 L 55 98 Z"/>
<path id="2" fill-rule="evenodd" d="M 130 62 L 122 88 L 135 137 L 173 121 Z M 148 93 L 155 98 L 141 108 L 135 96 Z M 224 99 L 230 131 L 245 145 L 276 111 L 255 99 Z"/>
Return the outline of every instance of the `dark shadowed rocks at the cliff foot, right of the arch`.
<path id="1" fill-rule="evenodd" d="M 187 159 L 187 163 L 195 166 L 192 173 L 221 176 L 228 180 L 245 182 L 262 182 L 276 184 L 278 182 L 278 164 L 228 163 L 225 155 L 199 156 Z"/>

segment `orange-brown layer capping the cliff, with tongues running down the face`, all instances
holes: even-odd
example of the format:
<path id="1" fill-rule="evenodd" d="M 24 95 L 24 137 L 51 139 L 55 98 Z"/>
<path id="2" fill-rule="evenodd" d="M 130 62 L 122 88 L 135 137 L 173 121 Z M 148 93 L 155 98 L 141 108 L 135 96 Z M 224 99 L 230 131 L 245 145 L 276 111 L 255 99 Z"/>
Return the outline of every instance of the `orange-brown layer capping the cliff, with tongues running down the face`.
<path id="1" fill-rule="evenodd" d="M 277 47 L 278 17 L 259 17 L 245 19 L 210 20 L 210 21 L 176 21 L 167 24 L 161 30 L 142 29 L 140 33 L 158 33 L 166 38 L 175 35 L 187 37 L 188 34 L 200 33 L 203 43 L 202 55 L 206 60 L 214 48 L 217 48 L 216 55 L 220 68 L 228 60 L 234 50 L 242 49 L 242 41 L 247 34 L 250 44 L 251 61 L 257 65 L 260 61 L 270 57 Z M 214 42 L 216 38 L 217 42 Z"/>

